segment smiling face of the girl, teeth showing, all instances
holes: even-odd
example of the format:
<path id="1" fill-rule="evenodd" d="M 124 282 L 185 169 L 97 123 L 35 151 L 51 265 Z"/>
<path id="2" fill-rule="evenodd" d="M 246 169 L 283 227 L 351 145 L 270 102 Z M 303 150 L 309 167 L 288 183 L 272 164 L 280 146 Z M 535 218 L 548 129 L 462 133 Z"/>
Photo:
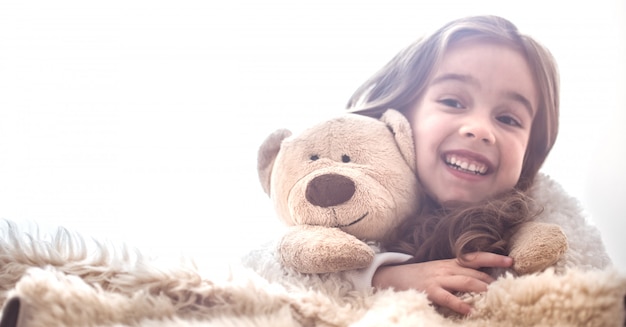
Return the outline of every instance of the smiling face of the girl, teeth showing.
<path id="1" fill-rule="evenodd" d="M 522 54 L 506 45 L 450 47 L 407 114 L 417 171 L 438 203 L 477 202 L 519 180 L 537 91 Z"/>

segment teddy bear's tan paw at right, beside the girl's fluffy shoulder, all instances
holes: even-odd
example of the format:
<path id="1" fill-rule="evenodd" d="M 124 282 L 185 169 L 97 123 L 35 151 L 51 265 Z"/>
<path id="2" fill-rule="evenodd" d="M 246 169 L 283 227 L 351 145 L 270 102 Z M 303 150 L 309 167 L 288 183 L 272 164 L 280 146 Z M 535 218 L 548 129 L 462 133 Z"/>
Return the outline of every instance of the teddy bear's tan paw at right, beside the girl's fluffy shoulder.
<path id="1" fill-rule="evenodd" d="M 568 248 L 567 236 L 555 224 L 526 223 L 511 239 L 513 270 L 531 274 L 554 265 Z"/>

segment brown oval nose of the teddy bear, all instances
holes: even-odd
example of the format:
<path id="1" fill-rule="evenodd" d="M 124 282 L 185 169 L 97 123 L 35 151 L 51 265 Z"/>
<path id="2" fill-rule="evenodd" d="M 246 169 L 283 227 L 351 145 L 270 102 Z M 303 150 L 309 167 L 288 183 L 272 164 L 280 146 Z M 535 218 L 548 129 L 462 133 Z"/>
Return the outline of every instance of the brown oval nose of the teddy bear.
<path id="1" fill-rule="evenodd" d="M 354 195 L 354 182 L 342 175 L 325 174 L 313 178 L 306 188 L 306 199 L 318 207 L 342 204 Z"/>

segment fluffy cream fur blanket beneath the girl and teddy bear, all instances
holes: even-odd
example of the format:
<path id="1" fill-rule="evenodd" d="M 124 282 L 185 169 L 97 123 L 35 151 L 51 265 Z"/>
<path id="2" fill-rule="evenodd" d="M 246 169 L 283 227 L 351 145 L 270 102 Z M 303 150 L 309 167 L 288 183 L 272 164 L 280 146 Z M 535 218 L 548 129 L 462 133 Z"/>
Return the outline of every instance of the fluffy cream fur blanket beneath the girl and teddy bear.
<path id="1" fill-rule="evenodd" d="M 572 221 L 564 225 L 570 252 L 553 269 L 505 275 L 484 294 L 466 294 L 474 303 L 468 317 L 444 317 L 420 292 L 357 292 L 338 274 L 285 271 L 271 247 L 252 252 L 247 266 L 230 267 L 227 276 L 208 276 L 191 263 L 161 265 L 108 245 L 89 254 L 79 235 L 29 236 L 7 222 L 0 234 L 0 327 L 623 326 L 626 276 L 606 267 L 601 242 L 585 242 L 584 235 L 597 235 L 577 204 L 556 198 L 548 179 L 541 183 L 535 194 L 566 200 L 546 206 L 540 219 Z"/>

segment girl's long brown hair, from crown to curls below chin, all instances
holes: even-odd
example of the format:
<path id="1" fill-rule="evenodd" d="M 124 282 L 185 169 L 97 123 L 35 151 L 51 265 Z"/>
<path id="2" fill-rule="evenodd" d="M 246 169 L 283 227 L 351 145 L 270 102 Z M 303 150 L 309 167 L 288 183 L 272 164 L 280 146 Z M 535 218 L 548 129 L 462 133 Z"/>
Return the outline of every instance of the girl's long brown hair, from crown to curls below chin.
<path id="1" fill-rule="evenodd" d="M 535 214 L 524 191 L 556 141 L 559 77 L 555 60 L 541 44 L 496 16 L 458 19 L 409 45 L 356 90 L 348 110 L 375 117 L 389 108 L 406 114 L 423 95 L 446 50 L 467 40 L 495 42 L 519 51 L 533 74 L 538 108 L 515 189 L 483 203 L 446 204 L 445 208 L 429 200 L 419 218 L 405 221 L 384 242 L 387 250 L 415 255 L 415 261 L 453 258 L 470 251 L 505 254 L 512 231 Z"/>

